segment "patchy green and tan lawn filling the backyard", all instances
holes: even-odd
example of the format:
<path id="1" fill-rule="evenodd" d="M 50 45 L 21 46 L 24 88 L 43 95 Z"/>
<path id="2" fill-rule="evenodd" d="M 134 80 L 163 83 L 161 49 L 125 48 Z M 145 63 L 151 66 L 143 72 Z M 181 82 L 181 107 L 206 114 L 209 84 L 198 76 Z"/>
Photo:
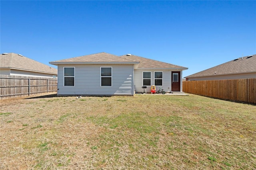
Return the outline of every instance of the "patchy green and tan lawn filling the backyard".
<path id="1" fill-rule="evenodd" d="M 256 106 L 190 94 L 0 100 L 0 169 L 256 169 Z"/>

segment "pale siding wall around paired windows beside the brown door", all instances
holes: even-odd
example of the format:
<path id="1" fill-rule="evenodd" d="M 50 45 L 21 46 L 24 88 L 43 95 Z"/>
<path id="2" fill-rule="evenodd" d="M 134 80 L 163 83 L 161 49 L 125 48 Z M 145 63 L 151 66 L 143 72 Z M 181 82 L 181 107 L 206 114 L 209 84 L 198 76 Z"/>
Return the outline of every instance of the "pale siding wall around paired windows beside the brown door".
<path id="1" fill-rule="evenodd" d="M 154 72 L 163 72 L 163 85 L 162 86 L 156 86 L 156 91 L 159 90 L 160 87 L 164 89 L 165 92 L 171 92 L 172 89 L 172 71 L 175 70 L 134 70 L 134 85 L 136 88 L 136 92 L 143 92 L 142 89 L 142 83 L 143 83 L 143 72 L 151 72 L 151 85 L 154 85 L 155 79 L 154 79 Z M 179 70 L 180 71 L 180 70 Z M 181 75 L 182 75 L 182 71 Z M 182 79 L 181 79 L 182 80 Z M 181 84 L 182 86 L 182 84 Z M 147 92 L 149 93 L 151 90 L 151 86 L 147 86 Z"/>

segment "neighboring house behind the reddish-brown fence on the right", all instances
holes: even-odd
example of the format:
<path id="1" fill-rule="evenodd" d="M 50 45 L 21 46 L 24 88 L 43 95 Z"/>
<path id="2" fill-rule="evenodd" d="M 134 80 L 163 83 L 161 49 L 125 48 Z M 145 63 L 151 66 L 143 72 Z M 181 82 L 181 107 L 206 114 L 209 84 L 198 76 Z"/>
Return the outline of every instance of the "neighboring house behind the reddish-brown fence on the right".
<path id="1" fill-rule="evenodd" d="M 187 81 L 256 78 L 256 55 L 240 57 L 184 78 Z"/>

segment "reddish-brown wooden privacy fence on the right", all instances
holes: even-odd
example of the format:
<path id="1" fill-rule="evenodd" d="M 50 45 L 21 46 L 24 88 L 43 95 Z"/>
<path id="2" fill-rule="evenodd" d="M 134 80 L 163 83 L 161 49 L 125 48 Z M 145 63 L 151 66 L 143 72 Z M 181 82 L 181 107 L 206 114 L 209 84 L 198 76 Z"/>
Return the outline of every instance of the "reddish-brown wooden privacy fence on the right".
<path id="1" fill-rule="evenodd" d="M 256 78 L 184 81 L 183 92 L 256 104 Z"/>

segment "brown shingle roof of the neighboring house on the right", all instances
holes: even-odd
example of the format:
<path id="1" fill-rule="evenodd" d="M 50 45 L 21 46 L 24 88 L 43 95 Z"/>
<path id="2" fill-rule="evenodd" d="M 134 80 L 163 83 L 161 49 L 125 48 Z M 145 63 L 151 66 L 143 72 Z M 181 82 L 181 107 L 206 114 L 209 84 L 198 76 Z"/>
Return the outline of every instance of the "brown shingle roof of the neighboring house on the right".
<path id="1" fill-rule="evenodd" d="M 246 57 L 240 57 L 227 63 L 208 68 L 201 72 L 191 74 L 185 78 L 203 77 L 203 76 L 216 76 L 226 74 L 240 74 L 240 73 L 256 73 L 256 55 L 249 55 Z"/>

